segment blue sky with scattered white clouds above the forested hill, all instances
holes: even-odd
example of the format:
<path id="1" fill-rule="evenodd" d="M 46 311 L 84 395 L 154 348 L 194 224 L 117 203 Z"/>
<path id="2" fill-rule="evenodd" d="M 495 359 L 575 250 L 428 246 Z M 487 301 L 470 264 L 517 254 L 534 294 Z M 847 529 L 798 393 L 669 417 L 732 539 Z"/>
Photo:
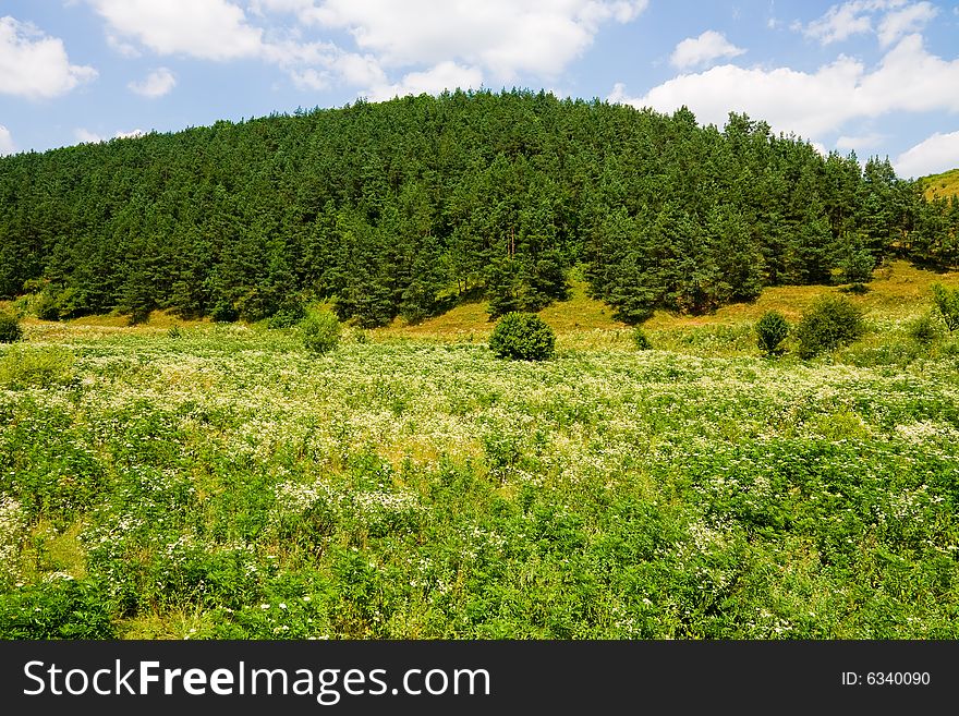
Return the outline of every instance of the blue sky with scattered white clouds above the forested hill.
<path id="1" fill-rule="evenodd" d="M 0 0 L 0 154 L 545 88 L 959 167 L 959 0 Z"/>

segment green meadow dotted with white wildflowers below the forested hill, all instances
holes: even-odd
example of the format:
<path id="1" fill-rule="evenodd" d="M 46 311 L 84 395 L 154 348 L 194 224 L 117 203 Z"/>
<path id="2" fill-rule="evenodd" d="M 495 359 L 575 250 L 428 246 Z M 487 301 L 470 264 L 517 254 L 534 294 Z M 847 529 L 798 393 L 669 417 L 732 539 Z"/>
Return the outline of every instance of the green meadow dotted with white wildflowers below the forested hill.
<path id="1" fill-rule="evenodd" d="M 959 340 L 27 326 L 0 634 L 955 639 Z"/>

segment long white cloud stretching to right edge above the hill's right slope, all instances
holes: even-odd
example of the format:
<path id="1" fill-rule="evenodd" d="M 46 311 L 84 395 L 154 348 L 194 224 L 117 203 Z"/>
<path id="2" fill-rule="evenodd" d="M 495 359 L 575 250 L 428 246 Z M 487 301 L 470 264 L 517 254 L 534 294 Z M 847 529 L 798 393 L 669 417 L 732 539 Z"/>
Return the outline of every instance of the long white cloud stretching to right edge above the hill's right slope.
<path id="1" fill-rule="evenodd" d="M 857 118 L 893 111 L 959 111 L 959 59 L 945 61 L 926 52 L 922 37 L 903 38 L 873 71 L 839 57 L 808 73 L 789 68 L 720 65 L 680 75 L 629 97 L 617 85 L 610 101 L 671 112 L 687 105 L 699 121 L 725 124 L 730 111 L 764 119 L 776 130 L 818 138 Z"/>

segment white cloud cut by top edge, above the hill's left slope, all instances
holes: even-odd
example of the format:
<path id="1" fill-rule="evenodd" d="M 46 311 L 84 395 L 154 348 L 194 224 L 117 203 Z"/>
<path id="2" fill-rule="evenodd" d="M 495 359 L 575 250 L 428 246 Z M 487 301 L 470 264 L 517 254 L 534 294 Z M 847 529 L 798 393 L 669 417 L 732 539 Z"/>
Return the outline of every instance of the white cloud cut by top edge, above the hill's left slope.
<path id="1" fill-rule="evenodd" d="M 132 38 L 158 54 L 205 60 L 258 56 L 263 31 L 227 0 L 87 0 L 110 26 L 113 41 Z"/>

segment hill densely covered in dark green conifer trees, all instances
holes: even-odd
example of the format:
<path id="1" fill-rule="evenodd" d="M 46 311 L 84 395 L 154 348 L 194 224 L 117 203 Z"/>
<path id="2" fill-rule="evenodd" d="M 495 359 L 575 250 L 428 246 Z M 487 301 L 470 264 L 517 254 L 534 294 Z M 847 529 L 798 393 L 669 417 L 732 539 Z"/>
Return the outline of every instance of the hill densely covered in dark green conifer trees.
<path id="1" fill-rule="evenodd" d="M 581 266 L 626 320 L 764 284 L 955 264 L 959 202 L 888 160 L 545 93 L 447 93 L 0 159 L 0 294 L 45 317 L 258 319 L 332 300 L 416 320 L 536 310 Z"/>

